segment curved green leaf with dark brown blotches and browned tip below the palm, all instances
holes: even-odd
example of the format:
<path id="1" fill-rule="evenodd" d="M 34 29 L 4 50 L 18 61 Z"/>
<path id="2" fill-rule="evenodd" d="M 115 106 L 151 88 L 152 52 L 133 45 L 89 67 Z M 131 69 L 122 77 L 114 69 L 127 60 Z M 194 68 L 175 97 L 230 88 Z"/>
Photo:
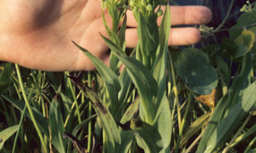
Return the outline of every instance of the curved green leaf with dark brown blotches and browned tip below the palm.
<path id="1" fill-rule="evenodd" d="M 104 105 L 102 99 L 100 99 L 100 97 L 93 90 L 75 77 L 71 77 L 71 80 L 80 90 L 82 90 L 86 98 L 88 98 L 93 104 L 93 108 L 96 114 L 99 116 L 102 127 L 104 128 L 107 136 L 107 143 L 110 144 L 107 147 L 107 152 L 116 152 L 116 146 L 121 143 L 121 138 L 113 116 L 109 110 L 107 110 L 107 107 Z"/>

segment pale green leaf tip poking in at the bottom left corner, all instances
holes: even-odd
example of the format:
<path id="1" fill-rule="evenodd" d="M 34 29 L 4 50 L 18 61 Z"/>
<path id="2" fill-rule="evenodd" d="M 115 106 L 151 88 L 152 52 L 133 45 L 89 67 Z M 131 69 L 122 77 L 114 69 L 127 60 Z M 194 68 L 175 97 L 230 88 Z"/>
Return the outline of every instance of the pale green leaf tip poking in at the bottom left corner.
<path id="1" fill-rule="evenodd" d="M 12 136 L 12 134 L 15 134 L 19 128 L 19 125 L 13 125 L 3 131 L 0 132 L 0 151 L 3 148 L 4 143 Z"/>

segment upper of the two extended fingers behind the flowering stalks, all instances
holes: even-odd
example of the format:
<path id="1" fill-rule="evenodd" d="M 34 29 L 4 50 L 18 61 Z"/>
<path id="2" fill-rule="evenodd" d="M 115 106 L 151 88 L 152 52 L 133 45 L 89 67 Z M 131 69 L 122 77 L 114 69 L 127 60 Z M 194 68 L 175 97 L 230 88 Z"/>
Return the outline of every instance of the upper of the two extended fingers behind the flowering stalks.
<path id="1" fill-rule="evenodd" d="M 165 6 L 161 6 L 165 10 Z M 171 23 L 176 25 L 204 24 L 212 19 L 212 12 L 205 6 L 170 6 Z M 163 16 L 157 22 L 160 26 Z M 131 10 L 127 10 L 127 26 L 136 27 L 137 22 Z"/>

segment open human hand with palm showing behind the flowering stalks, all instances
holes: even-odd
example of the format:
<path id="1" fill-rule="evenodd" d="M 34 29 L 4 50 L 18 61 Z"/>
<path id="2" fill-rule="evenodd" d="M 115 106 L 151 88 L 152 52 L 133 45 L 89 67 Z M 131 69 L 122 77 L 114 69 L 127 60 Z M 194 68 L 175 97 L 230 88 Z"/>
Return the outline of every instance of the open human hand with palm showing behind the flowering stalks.
<path id="1" fill-rule="evenodd" d="M 164 9 L 164 8 L 163 8 Z M 203 6 L 171 6 L 172 26 L 208 23 L 212 13 Z M 0 1 L 0 60 L 47 71 L 94 70 L 91 61 L 71 42 L 109 61 L 107 36 L 100 1 L 2 0 Z M 104 10 L 107 22 L 111 18 Z M 161 23 L 161 17 L 158 19 Z M 127 47 L 137 43 L 136 21 L 127 12 Z M 196 28 L 172 28 L 169 45 L 191 45 L 200 40 Z"/>

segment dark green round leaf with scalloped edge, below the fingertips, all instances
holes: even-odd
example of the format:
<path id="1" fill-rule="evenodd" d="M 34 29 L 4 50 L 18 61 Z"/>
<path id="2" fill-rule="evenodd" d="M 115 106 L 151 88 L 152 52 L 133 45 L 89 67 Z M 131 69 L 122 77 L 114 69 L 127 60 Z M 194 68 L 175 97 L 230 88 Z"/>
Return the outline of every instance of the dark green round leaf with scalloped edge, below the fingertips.
<path id="1" fill-rule="evenodd" d="M 175 62 L 175 68 L 186 87 L 197 94 L 210 94 L 217 87 L 217 71 L 201 50 L 184 49 Z"/>

